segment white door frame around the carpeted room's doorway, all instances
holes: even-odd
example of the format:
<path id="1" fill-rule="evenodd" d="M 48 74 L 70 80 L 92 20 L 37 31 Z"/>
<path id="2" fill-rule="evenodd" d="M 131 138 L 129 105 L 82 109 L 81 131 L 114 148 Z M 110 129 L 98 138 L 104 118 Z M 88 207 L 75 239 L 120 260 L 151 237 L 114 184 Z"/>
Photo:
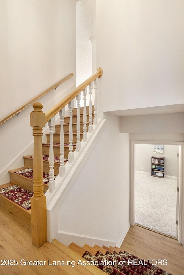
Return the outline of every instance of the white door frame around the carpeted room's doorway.
<path id="1" fill-rule="evenodd" d="M 177 200 L 178 209 L 175 208 L 175 214 L 176 214 L 176 236 L 178 236 L 178 241 L 181 244 L 184 244 L 184 188 L 183 188 L 183 142 L 173 142 L 173 141 L 131 141 L 131 181 L 130 181 L 130 224 L 135 225 L 135 195 L 136 195 L 136 186 L 135 186 L 135 180 L 136 180 L 136 144 L 147 144 L 147 145 L 155 145 L 155 144 L 161 144 L 161 145 L 175 145 L 177 147 L 177 154 L 179 154 L 177 157 L 177 191 L 175 198 Z M 143 154 L 142 154 L 143 155 Z M 160 154 L 161 155 L 161 154 Z M 153 152 L 151 154 L 152 156 L 156 156 Z M 151 174 L 151 163 L 152 160 L 149 160 L 150 165 L 150 174 Z M 166 159 L 167 161 L 167 159 Z M 165 162 L 166 163 L 166 162 Z M 141 169 L 144 166 L 141 165 Z M 167 169 L 168 170 L 168 167 Z M 166 172 L 167 173 L 167 172 Z M 154 178 L 151 177 L 150 178 Z M 155 177 L 157 179 L 157 177 Z M 164 177 L 167 178 L 167 177 Z M 163 178 L 158 178 L 158 180 L 164 180 Z M 158 187 L 156 188 L 158 189 Z M 158 190 L 157 190 L 158 191 Z M 144 192 L 145 194 L 145 192 Z M 159 192 L 158 192 L 159 194 Z M 142 199 L 143 200 L 143 199 Z M 168 199 L 169 201 L 169 199 Z M 153 206 L 154 208 L 154 206 Z M 164 217 L 162 217 L 164 219 Z M 155 218 L 154 218 L 155 219 Z M 153 220 L 154 220 L 153 219 Z M 178 223 L 178 224 L 177 224 Z M 154 229 L 153 229 L 154 230 Z"/>

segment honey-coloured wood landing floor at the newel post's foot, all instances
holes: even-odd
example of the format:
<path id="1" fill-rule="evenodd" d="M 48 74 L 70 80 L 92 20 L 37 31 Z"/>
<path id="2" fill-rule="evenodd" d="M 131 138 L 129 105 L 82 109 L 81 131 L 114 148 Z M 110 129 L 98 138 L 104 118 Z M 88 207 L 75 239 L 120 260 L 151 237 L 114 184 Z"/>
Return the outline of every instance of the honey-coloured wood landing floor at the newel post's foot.
<path id="1" fill-rule="evenodd" d="M 58 249 L 57 247 L 48 242 L 46 242 L 40 248 L 36 248 L 34 245 L 32 245 L 31 242 L 31 233 L 29 225 L 20 223 L 16 216 L 11 214 L 4 208 L 1 208 L 0 206 L 1 275 L 95 274 L 95 271 L 93 269 L 95 268 L 96 270 L 96 267 L 94 266 L 89 266 L 89 268 L 81 265 L 77 266 L 77 263 L 75 262 L 75 266 L 72 267 L 73 259 L 70 256 L 68 256 L 68 254 L 68 252 L 62 252 L 60 249 Z M 31 262 L 29 262 L 28 265 L 24 265 L 25 261 L 36 261 L 39 265 L 33 265 L 33 263 L 31 265 Z M 53 261 L 67 261 L 68 265 L 65 264 L 63 266 L 54 266 L 52 265 L 52 263 L 54 263 Z M 69 262 L 71 263 L 71 265 L 69 265 Z"/>

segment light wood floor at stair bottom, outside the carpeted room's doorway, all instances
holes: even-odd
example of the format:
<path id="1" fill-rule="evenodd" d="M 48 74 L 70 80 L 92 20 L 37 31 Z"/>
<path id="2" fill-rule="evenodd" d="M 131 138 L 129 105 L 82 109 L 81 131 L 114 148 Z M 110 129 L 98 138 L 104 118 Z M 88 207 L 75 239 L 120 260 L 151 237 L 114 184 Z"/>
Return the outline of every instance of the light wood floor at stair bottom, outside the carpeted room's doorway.
<path id="1" fill-rule="evenodd" d="M 144 260 L 166 259 L 167 265 L 158 267 L 173 275 L 184 274 L 184 249 L 176 239 L 135 225 L 130 227 L 120 249 Z"/>

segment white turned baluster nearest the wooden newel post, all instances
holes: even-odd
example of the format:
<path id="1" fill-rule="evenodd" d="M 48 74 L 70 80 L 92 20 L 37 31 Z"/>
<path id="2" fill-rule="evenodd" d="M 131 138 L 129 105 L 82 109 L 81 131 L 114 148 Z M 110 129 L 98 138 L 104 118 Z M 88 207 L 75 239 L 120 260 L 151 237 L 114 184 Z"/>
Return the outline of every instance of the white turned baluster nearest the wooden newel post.
<path id="1" fill-rule="evenodd" d="M 49 180 L 49 192 L 52 193 L 55 189 L 54 180 L 54 146 L 53 146 L 53 129 L 55 125 L 55 117 L 51 118 L 48 122 L 49 134 L 50 134 L 50 147 L 49 147 L 49 166 L 50 166 L 50 180 Z"/>

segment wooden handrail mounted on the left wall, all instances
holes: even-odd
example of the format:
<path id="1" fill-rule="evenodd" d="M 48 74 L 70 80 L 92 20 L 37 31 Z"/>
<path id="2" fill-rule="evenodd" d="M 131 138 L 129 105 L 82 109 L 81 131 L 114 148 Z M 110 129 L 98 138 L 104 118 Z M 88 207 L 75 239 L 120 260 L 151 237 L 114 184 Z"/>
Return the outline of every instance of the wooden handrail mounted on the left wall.
<path id="1" fill-rule="evenodd" d="M 60 81 L 58 81 L 57 83 L 55 83 L 54 85 L 52 85 L 51 87 L 49 87 L 48 89 L 46 89 L 45 91 L 43 91 L 42 93 L 40 93 L 39 95 L 35 96 L 33 99 L 31 99 L 28 102 L 26 102 L 24 105 L 20 106 L 18 109 L 16 109 L 13 112 L 11 112 L 9 115 L 7 115 L 4 118 L 2 118 L 0 120 L 0 125 L 3 124 L 4 122 L 6 122 L 7 120 L 9 120 L 10 118 L 12 118 L 13 116 L 15 116 L 16 114 L 20 113 L 22 110 L 24 110 L 26 107 L 28 107 L 33 102 L 37 101 L 43 95 L 46 95 L 48 92 L 50 92 L 54 88 L 57 88 L 57 86 L 59 86 L 60 84 L 64 83 L 67 79 L 69 79 L 73 75 L 74 75 L 73 73 L 70 73 L 68 76 L 64 77 L 63 79 L 61 79 Z"/>

